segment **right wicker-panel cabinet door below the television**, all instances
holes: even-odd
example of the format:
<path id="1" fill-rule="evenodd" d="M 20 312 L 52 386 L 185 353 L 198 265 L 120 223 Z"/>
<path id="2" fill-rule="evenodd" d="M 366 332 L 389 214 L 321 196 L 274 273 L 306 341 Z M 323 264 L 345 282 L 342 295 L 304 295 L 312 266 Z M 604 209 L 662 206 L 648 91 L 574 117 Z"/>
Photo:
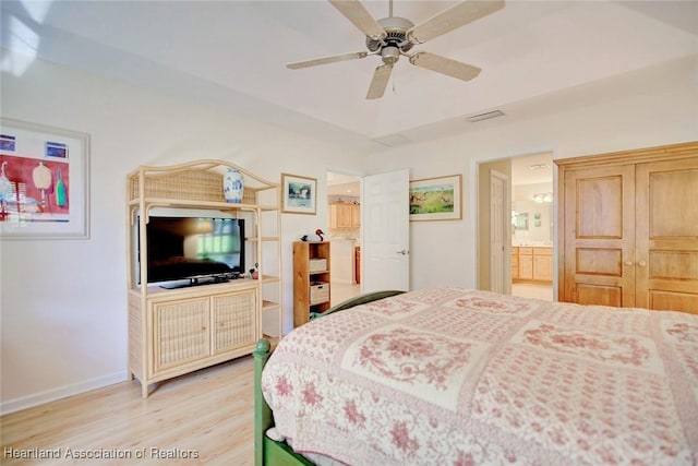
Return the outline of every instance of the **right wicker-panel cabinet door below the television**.
<path id="1" fill-rule="evenodd" d="M 256 289 L 213 297 L 214 355 L 257 340 L 256 302 Z"/>

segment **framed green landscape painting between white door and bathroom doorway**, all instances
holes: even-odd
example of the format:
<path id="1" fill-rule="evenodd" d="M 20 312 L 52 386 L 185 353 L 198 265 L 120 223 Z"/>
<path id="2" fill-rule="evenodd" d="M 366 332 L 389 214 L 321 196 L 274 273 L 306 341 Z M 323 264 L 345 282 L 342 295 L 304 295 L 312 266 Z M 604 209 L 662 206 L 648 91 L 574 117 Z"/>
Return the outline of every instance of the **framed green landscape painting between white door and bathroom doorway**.
<path id="1" fill-rule="evenodd" d="M 458 220 L 460 175 L 410 181 L 410 220 Z"/>

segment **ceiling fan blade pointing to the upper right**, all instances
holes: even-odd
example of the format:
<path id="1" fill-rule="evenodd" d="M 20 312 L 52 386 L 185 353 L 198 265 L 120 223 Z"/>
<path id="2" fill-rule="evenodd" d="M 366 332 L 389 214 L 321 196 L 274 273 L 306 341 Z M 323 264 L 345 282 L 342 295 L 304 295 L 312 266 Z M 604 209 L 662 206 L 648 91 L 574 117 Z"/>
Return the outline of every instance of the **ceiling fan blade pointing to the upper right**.
<path id="1" fill-rule="evenodd" d="M 409 29 L 407 39 L 412 44 L 423 44 L 503 8 L 504 0 L 462 1 Z"/>

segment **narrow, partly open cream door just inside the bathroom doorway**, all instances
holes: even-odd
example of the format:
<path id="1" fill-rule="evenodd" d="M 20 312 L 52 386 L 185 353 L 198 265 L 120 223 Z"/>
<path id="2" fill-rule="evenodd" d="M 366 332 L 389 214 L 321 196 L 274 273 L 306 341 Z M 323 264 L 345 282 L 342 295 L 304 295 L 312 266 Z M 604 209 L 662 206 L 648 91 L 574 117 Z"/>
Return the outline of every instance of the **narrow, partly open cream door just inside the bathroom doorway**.
<path id="1" fill-rule="evenodd" d="M 490 171 L 490 289 L 508 294 L 508 261 L 506 261 L 506 241 L 508 216 L 505 215 L 507 176 L 495 170 Z"/>

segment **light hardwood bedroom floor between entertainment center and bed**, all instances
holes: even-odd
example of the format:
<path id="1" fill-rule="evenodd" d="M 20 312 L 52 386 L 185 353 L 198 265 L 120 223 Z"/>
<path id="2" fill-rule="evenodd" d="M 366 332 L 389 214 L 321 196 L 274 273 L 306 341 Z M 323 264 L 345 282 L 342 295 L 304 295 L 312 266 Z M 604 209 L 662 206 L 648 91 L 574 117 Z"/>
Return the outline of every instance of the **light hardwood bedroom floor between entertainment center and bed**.
<path id="1" fill-rule="evenodd" d="M 163 382 L 145 399 L 139 382 L 122 382 L 2 416 L 0 464 L 252 465 L 253 408 L 251 356 Z"/>

